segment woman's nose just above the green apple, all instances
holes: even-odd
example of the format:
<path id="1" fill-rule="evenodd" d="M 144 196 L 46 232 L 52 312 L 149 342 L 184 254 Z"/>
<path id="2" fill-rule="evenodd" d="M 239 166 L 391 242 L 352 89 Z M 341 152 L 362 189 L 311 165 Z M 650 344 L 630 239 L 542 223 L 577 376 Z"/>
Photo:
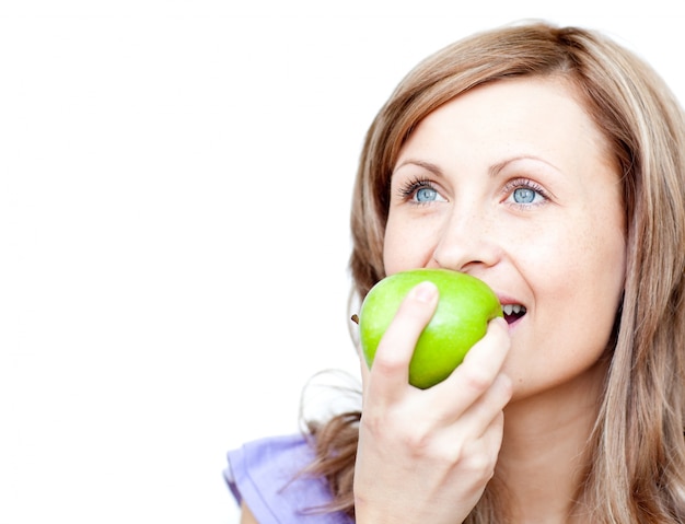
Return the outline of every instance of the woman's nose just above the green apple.
<path id="1" fill-rule="evenodd" d="M 495 266 L 502 257 L 499 236 L 487 210 L 454 209 L 436 245 L 433 264 L 463 272 Z"/>

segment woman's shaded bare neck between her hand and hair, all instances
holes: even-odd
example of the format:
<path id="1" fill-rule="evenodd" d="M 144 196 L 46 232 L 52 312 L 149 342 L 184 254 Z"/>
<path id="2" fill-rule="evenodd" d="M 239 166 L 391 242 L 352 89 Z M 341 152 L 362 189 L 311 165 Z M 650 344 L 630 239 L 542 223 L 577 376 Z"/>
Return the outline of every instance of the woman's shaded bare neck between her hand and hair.
<path id="1" fill-rule="evenodd" d="M 496 478 L 513 522 L 587 522 L 576 501 L 605 372 L 595 364 L 571 382 L 507 407 Z"/>

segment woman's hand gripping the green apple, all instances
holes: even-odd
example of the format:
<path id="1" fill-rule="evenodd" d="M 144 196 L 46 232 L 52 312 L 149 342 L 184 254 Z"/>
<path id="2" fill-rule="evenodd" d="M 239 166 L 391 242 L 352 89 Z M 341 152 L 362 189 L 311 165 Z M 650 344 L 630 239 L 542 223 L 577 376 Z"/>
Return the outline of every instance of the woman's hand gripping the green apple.
<path id="1" fill-rule="evenodd" d="M 511 398 L 511 382 L 501 373 L 507 324 L 490 322 L 445 381 L 418 389 L 408 383 L 409 361 L 437 303 L 433 284 L 417 286 L 381 340 L 371 371 L 362 359 L 358 524 L 463 522 L 492 477 L 502 409 Z"/>

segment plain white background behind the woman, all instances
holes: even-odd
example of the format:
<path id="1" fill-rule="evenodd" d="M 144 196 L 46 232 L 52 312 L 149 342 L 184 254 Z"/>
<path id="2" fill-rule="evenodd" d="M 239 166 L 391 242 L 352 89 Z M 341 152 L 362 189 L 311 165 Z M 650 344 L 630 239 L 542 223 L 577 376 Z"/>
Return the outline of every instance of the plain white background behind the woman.
<path id="1" fill-rule="evenodd" d="M 0 3 L 1 523 L 237 522 L 225 452 L 357 370 L 356 161 L 429 53 L 543 18 L 685 96 L 659 2 L 468 3 Z"/>

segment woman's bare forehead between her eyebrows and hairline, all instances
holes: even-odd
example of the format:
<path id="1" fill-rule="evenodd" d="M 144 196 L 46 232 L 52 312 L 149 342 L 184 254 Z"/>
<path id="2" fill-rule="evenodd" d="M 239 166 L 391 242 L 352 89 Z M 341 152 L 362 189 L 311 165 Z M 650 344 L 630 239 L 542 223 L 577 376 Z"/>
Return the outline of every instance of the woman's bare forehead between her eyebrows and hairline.
<path id="1" fill-rule="evenodd" d="M 557 77 L 521 77 L 474 88 L 441 105 L 415 127 L 397 161 L 417 150 L 494 155 L 566 154 L 609 159 L 607 140 L 582 96 Z M 456 150 L 455 150 L 456 148 Z"/>

